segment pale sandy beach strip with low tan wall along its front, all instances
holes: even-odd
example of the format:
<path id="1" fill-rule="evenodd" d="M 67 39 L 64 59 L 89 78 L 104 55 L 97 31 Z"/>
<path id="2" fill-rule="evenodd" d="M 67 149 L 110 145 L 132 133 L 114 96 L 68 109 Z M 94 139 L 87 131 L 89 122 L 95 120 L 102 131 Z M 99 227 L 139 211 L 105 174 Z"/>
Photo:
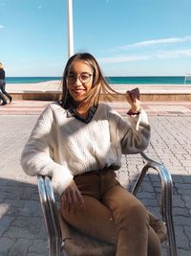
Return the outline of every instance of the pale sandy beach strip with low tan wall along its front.
<path id="1" fill-rule="evenodd" d="M 138 87 L 143 101 L 191 101 L 191 84 L 110 84 L 120 94 Z M 55 100 L 61 93 L 61 81 L 7 83 L 14 100 Z M 117 101 L 123 95 L 116 94 Z"/>

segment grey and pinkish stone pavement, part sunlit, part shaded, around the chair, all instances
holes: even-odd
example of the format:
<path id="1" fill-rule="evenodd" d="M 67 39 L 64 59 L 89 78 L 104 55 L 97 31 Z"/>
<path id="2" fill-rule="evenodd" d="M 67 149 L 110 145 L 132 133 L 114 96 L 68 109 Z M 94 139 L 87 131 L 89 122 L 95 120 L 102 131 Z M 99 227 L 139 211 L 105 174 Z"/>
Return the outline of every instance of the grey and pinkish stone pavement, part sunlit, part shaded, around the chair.
<path id="1" fill-rule="evenodd" d="M 13 102 L 0 106 L 0 255 L 48 255 L 47 234 L 40 208 L 36 178 L 20 167 L 21 151 L 47 102 Z M 126 105 L 112 104 L 122 115 Z M 152 138 L 148 156 L 163 162 L 174 180 L 174 223 L 179 256 L 191 255 L 191 104 L 144 102 Z M 139 155 L 125 155 L 118 173 L 131 189 L 142 166 Z M 159 176 L 150 172 L 138 193 L 159 216 Z M 162 256 L 167 255 L 166 244 Z"/>

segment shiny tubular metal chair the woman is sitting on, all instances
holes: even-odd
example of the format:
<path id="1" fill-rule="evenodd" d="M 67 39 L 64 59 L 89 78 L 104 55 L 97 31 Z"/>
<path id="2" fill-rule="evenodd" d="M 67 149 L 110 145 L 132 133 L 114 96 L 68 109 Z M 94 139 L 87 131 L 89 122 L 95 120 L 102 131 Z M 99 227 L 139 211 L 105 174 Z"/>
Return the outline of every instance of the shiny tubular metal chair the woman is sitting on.
<path id="1" fill-rule="evenodd" d="M 133 188 L 133 195 L 138 193 L 138 188 L 149 169 L 159 173 L 161 181 L 160 210 L 163 221 L 167 227 L 168 255 L 177 256 L 176 238 L 172 215 L 172 177 L 164 165 L 150 159 L 141 153 L 145 162 L 137 182 Z M 116 255 L 116 246 L 106 244 L 90 238 L 69 225 L 60 215 L 55 202 L 53 185 L 49 176 L 38 175 L 38 191 L 43 215 L 48 232 L 50 256 L 113 256 Z"/>

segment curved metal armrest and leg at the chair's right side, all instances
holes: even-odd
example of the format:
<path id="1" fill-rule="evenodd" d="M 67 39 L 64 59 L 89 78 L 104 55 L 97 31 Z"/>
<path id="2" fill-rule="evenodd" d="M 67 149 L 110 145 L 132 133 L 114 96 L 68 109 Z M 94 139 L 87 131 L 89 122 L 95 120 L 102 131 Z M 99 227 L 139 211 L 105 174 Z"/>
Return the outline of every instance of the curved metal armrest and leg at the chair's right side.
<path id="1" fill-rule="evenodd" d="M 136 184 L 132 190 L 133 195 L 137 195 L 138 188 L 146 175 L 147 171 L 152 168 L 159 173 L 161 181 L 161 202 L 160 202 L 160 211 L 163 221 L 166 222 L 167 232 L 168 232 L 168 241 L 169 241 L 169 250 L 170 255 L 177 256 L 177 246 L 175 239 L 175 230 L 173 224 L 173 214 L 172 214 L 172 194 L 173 194 L 173 181 L 172 176 L 167 170 L 167 168 L 160 164 L 157 161 L 149 158 L 144 152 L 140 153 L 142 158 L 146 161 L 146 164 L 142 168 Z"/>

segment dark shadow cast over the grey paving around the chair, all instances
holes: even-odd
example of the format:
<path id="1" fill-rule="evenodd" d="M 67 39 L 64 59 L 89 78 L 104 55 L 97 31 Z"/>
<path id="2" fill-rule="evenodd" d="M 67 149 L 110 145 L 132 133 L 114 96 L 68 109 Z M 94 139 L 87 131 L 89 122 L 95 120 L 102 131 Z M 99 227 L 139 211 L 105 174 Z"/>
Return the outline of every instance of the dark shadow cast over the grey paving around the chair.
<path id="1" fill-rule="evenodd" d="M 124 184 L 129 190 L 137 178 L 134 175 L 129 184 Z M 190 203 L 189 194 L 186 194 L 186 178 L 189 176 L 172 175 L 174 180 L 173 216 L 177 238 L 179 256 L 189 256 L 191 244 L 191 219 L 188 210 Z M 176 180 L 183 178 L 182 188 L 177 187 Z M 182 191 L 184 190 L 184 198 Z M 47 233 L 42 210 L 39 202 L 36 185 L 14 181 L 11 179 L 0 179 L 0 255 L 48 255 Z M 180 194 L 181 193 L 181 194 Z M 138 192 L 138 198 L 148 209 L 160 216 L 160 180 L 159 175 L 148 174 L 145 176 Z M 187 196 L 186 196 L 187 195 Z M 166 244 L 162 244 L 162 255 L 167 255 Z"/>

